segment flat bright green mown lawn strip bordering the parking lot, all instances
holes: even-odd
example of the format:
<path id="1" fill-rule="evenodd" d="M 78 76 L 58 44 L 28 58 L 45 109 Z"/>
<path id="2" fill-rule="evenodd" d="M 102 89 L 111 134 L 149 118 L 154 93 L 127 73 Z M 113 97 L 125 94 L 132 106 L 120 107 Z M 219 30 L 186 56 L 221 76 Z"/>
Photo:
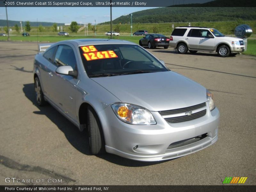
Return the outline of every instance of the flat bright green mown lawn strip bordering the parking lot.
<path id="1" fill-rule="evenodd" d="M 10 36 L 11 41 L 37 41 L 37 38 L 40 43 L 45 42 L 58 42 L 68 39 L 84 39 L 84 38 L 102 38 L 102 39 L 110 39 L 110 36 L 106 35 L 97 35 L 97 36 L 79 36 L 79 35 L 71 35 L 71 36 Z M 139 40 L 142 36 L 113 36 L 113 39 L 126 40 L 139 44 Z M 6 36 L 0 36 L 0 41 L 7 41 Z M 247 51 L 243 52 L 246 55 L 254 55 L 256 56 L 256 40 L 248 39 Z"/>

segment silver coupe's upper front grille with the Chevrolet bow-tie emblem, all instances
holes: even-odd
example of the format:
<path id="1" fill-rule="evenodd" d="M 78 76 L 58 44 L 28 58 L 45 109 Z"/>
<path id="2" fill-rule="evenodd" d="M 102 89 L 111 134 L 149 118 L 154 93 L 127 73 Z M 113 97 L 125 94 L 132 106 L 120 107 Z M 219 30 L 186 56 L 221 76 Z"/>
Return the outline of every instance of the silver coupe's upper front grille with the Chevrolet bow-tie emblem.
<path id="1" fill-rule="evenodd" d="M 202 110 L 200 110 L 201 108 Z M 164 120 L 167 121 L 168 123 L 180 123 L 180 122 L 190 121 L 190 120 L 197 119 L 199 117 L 204 116 L 206 114 L 206 103 L 204 102 L 204 103 L 186 107 L 186 108 L 179 108 L 179 109 L 172 109 L 172 110 L 165 110 L 165 111 L 158 111 L 158 112 L 161 116 L 163 116 Z M 186 112 L 191 112 L 191 113 L 190 115 L 185 115 Z"/>

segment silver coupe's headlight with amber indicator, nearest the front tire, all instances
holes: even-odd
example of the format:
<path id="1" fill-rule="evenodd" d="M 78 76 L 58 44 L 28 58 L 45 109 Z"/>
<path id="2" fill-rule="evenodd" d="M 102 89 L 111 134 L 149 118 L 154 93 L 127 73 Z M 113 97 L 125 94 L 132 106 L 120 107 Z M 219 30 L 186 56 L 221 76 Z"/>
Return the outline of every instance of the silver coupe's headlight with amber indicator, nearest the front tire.
<path id="1" fill-rule="evenodd" d="M 145 108 L 128 103 L 114 103 L 111 107 L 116 116 L 125 123 L 136 125 L 156 124 L 153 115 Z"/>

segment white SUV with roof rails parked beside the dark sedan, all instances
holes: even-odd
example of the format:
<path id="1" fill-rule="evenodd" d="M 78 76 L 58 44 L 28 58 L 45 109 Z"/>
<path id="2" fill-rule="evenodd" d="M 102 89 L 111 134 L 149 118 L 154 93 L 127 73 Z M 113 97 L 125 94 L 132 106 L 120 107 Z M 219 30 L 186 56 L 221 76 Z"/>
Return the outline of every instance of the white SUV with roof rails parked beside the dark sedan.
<path id="1" fill-rule="evenodd" d="M 244 52 L 244 40 L 236 37 L 227 37 L 218 30 L 206 27 L 177 27 L 170 37 L 170 46 L 178 53 L 188 51 L 216 51 L 220 57 L 235 56 Z"/>

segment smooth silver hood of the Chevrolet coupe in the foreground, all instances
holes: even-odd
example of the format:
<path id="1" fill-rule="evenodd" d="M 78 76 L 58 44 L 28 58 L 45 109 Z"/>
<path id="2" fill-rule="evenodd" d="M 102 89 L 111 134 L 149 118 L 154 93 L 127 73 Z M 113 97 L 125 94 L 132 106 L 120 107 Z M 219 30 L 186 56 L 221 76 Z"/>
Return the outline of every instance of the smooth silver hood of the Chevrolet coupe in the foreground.
<path id="1" fill-rule="evenodd" d="M 172 71 L 97 77 L 92 80 L 122 102 L 150 111 L 184 108 L 207 101 L 203 86 Z"/>

